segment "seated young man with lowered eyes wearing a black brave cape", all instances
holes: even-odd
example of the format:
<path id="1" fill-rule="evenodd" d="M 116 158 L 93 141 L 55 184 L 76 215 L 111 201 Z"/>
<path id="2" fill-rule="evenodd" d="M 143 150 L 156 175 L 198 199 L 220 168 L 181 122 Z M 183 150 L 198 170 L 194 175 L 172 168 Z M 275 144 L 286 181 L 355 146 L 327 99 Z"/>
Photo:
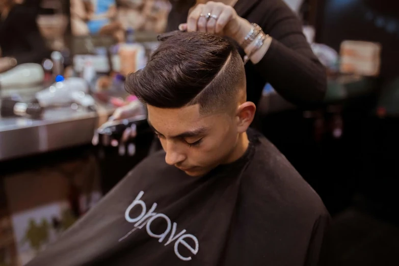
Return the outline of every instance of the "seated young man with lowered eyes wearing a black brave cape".
<path id="1" fill-rule="evenodd" d="M 165 151 L 146 158 L 29 266 L 320 265 L 329 215 L 249 129 L 244 65 L 210 34 L 165 40 L 126 88 Z"/>

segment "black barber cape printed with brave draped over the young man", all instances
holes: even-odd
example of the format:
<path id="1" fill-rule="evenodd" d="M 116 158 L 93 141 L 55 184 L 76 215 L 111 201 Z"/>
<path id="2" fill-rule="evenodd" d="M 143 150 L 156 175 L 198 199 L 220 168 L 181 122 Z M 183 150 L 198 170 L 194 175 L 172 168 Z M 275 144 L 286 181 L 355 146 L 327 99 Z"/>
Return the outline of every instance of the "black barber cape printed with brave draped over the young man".
<path id="1" fill-rule="evenodd" d="M 147 157 L 29 266 L 318 265 L 329 215 L 267 139 L 202 177 Z"/>

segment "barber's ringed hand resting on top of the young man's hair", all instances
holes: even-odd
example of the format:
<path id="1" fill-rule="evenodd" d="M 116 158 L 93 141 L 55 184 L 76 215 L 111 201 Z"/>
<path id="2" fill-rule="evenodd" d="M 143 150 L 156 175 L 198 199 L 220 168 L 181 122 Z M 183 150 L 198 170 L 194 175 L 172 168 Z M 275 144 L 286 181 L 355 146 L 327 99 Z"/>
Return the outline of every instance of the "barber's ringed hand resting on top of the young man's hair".
<path id="1" fill-rule="evenodd" d="M 210 14 L 209 18 L 206 18 L 207 14 Z M 251 23 L 238 16 L 233 7 L 216 2 L 198 4 L 190 12 L 187 23 L 179 25 L 180 31 L 218 34 L 238 43 L 244 41 L 251 28 Z"/>

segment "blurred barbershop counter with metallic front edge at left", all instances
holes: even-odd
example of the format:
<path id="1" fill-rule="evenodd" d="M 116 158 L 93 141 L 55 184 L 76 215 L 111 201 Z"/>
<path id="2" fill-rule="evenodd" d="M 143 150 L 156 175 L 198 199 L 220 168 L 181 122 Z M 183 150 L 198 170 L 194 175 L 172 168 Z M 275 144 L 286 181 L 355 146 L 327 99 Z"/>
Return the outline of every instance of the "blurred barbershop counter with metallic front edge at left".
<path id="1" fill-rule="evenodd" d="M 88 144 L 114 111 L 102 104 L 96 111 L 71 107 L 48 109 L 40 120 L 0 117 L 0 161 Z"/>

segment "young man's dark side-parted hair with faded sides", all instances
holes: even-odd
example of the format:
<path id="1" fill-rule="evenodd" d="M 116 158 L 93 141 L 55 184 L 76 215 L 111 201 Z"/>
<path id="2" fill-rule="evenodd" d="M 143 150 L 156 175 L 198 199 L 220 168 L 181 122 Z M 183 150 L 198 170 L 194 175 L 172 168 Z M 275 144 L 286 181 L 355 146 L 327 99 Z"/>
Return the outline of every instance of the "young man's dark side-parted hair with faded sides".
<path id="1" fill-rule="evenodd" d="M 127 92 L 158 108 L 200 104 L 201 113 L 235 103 L 245 89 L 235 45 L 206 33 L 177 33 L 159 44 L 147 66 L 127 76 Z"/>

